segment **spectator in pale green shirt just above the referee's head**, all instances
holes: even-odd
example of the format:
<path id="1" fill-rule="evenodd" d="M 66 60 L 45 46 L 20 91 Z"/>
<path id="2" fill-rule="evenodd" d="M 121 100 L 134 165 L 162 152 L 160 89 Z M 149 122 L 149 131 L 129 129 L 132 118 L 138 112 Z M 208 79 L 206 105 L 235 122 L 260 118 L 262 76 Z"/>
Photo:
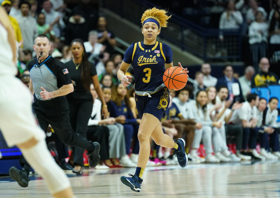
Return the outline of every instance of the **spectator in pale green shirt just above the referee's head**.
<path id="1" fill-rule="evenodd" d="M 53 27 L 45 23 L 46 17 L 44 13 L 40 13 L 37 17 L 38 34 L 45 34 L 49 40 L 55 40 L 55 32 Z"/>

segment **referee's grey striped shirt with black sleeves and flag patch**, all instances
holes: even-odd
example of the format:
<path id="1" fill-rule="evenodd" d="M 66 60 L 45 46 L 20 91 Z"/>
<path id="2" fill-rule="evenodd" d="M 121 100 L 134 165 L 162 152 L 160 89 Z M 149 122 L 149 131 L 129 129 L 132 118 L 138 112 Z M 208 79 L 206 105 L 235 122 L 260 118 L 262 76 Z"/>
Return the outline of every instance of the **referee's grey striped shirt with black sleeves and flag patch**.
<path id="1" fill-rule="evenodd" d="M 65 72 L 64 63 L 49 56 L 46 60 L 38 64 L 37 59 L 28 63 L 29 75 L 33 84 L 33 89 L 38 100 L 44 100 L 40 96 L 41 87 L 48 92 L 56 91 L 65 84 L 71 84 L 71 77 Z M 51 100 L 50 98 L 48 100 Z"/>

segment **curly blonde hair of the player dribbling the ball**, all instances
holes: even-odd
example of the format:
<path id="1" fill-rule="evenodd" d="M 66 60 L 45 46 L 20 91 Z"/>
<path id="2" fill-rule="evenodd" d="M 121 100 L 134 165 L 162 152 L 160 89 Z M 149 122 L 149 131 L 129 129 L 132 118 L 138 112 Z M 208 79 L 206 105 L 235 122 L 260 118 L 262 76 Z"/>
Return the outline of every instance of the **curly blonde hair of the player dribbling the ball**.
<path id="1" fill-rule="evenodd" d="M 168 16 L 166 13 L 167 13 L 166 10 L 163 10 L 163 9 L 160 10 L 160 9 L 155 8 L 155 7 L 146 10 L 141 17 L 142 26 L 143 26 L 143 22 L 145 20 L 155 19 L 160 24 L 159 29 L 161 27 L 167 27 L 167 20 L 171 17 L 171 15 Z"/>

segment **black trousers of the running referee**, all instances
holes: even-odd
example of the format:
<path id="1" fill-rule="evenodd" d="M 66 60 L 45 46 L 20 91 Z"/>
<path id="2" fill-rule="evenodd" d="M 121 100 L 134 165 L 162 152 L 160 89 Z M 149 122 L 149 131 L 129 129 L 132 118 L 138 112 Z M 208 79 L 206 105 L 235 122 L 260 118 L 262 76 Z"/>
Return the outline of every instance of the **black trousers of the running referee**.
<path id="1" fill-rule="evenodd" d="M 37 100 L 32 104 L 32 107 L 43 131 L 46 131 L 50 124 L 64 144 L 85 150 L 90 149 L 90 142 L 76 134 L 71 128 L 69 108 L 65 96 L 46 101 Z M 20 164 L 22 163 L 28 164 L 23 156 L 20 157 Z"/>

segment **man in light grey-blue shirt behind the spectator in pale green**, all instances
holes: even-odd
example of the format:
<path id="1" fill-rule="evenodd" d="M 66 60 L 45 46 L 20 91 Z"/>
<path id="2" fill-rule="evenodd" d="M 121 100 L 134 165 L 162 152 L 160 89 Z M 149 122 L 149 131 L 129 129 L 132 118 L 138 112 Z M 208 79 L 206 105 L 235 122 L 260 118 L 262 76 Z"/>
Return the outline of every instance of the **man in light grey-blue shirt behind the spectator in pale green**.
<path id="1" fill-rule="evenodd" d="M 46 16 L 46 24 L 53 27 L 55 36 L 60 37 L 61 29 L 65 27 L 62 17 L 60 17 L 60 13 L 53 9 L 53 4 L 49 0 L 43 2 L 43 9 L 41 10 L 41 12 L 44 13 Z M 80 37 L 76 37 L 76 38 L 80 38 Z"/>

